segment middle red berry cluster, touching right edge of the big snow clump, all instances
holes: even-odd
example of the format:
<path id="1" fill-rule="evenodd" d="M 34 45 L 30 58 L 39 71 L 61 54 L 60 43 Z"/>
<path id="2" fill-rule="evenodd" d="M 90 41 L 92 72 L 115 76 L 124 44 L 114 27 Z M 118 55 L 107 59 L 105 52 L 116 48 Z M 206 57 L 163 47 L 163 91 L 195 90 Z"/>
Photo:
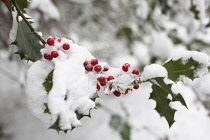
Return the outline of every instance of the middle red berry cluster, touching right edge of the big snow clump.
<path id="1" fill-rule="evenodd" d="M 94 70 L 97 73 L 109 70 L 109 66 L 102 67 L 101 65 L 98 65 L 98 59 L 92 59 L 91 61 L 85 61 L 83 63 L 83 65 L 87 71 Z"/>

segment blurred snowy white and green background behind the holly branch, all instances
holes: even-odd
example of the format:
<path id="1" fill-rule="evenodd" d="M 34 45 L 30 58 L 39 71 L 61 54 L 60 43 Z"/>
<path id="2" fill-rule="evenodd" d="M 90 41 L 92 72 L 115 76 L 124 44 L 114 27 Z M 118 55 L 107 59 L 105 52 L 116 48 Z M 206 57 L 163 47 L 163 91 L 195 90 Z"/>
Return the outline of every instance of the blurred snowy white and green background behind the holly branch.
<path id="1" fill-rule="evenodd" d="M 45 36 L 66 37 L 112 67 L 125 62 L 143 71 L 183 50 L 210 55 L 210 0 L 31 0 L 28 15 Z M 25 74 L 9 45 L 12 18 L 0 2 L 0 140 L 209 140 L 210 74 L 177 83 L 189 110 L 180 104 L 169 129 L 148 100 L 149 83 L 120 98 L 99 95 L 92 118 L 81 128 L 57 134 L 27 108 Z"/>

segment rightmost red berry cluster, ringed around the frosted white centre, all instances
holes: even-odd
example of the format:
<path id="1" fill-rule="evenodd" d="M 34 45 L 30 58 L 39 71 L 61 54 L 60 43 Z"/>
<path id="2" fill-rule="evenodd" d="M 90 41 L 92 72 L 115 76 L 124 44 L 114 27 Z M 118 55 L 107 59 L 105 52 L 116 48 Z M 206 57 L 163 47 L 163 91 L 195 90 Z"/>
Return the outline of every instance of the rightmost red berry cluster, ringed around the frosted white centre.
<path id="1" fill-rule="evenodd" d="M 124 72 L 128 72 L 129 69 L 130 69 L 130 64 L 128 64 L 128 63 L 125 63 L 125 64 L 122 66 L 122 70 L 123 70 Z M 132 74 L 140 75 L 140 72 L 139 72 L 138 70 L 134 69 L 134 70 L 132 71 Z M 101 88 L 100 86 L 106 86 L 107 81 L 111 81 L 111 80 L 114 80 L 114 79 L 115 79 L 114 76 L 108 76 L 107 78 L 106 78 L 106 77 L 103 77 L 103 76 L 99 77 L 99 78 L 97 79 L 97 80 L 98 80 L 97 90 L 98 90 L 98 91 L 100 90 L 100 88 Z M 136 85 L 133 86 L 133 89 L 138 89 L 138 88 L 139 88 L 139 84 L 138 84 L 138 83 L 137 83 Z M 110 90 L 110 91 L 112 90 L 112 87 L 111 87 L 111 86 L 109 86 L 109 90 Z M 130 90 L 132 90 L 132 89 L 129 89 L 129 88 L 126 89 L 124 93 L 121 93 L 120 91 L 115 90 L 115 91 L 113 91 L 113 94 L 114 94 L 116 97 L 119 97 L 119 96 L 121 96 L 122 94 L 123 94 L 123 95 L 126 95 Z"/>

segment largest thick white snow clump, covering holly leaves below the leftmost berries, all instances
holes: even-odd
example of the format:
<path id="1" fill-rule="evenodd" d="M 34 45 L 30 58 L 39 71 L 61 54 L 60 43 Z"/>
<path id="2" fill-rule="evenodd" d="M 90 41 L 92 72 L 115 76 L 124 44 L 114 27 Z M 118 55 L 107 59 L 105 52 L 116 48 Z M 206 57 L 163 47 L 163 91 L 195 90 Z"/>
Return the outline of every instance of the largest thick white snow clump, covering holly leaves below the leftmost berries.
<path id="1" fill-rule="evenodd" d="M 61 46 L 64 43 L 70 45 L 69 50 L 62 49 Z M 96 92 L 96 80 L 86 74 L 83 66 L 84 61 L 93 56 L 86 48 L 65 38 L 62 38 L 60 43 L 56 41 L 55 46 L 46 45 L 41 53 L 50 54 L 55 50 L 59 52 L 58 58 L 54 58 L 52 62 L 42 58 L 28 70 L 26 95 L 29 108 L 35 116 L 48 123 L 51 119 L 55 121 L 59 116 L 60 128 L 69 130 L 72 126 L 81 125 L 75 111 L 87 114 L 95 107 L 95 103 L 90 98 Z M 47 96 L 42 83 L 53 69 L 53 87 Z M 43 113 L 44 103 L 47 103 L 51 116 Z"/>

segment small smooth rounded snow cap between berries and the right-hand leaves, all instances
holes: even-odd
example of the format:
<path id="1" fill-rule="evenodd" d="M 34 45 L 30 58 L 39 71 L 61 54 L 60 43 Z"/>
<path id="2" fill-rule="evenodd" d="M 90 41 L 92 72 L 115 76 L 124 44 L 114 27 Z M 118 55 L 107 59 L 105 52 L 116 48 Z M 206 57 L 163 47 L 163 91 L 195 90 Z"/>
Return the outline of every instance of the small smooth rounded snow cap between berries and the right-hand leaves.
<path id="1" fill-rule="evenodd" d="M 141 75 L 142 81 L 147 81 L 156 77 L 166 77 L 168 76 L 167 70 L 159 64 L 151 64 L 144 68 Z"/>

